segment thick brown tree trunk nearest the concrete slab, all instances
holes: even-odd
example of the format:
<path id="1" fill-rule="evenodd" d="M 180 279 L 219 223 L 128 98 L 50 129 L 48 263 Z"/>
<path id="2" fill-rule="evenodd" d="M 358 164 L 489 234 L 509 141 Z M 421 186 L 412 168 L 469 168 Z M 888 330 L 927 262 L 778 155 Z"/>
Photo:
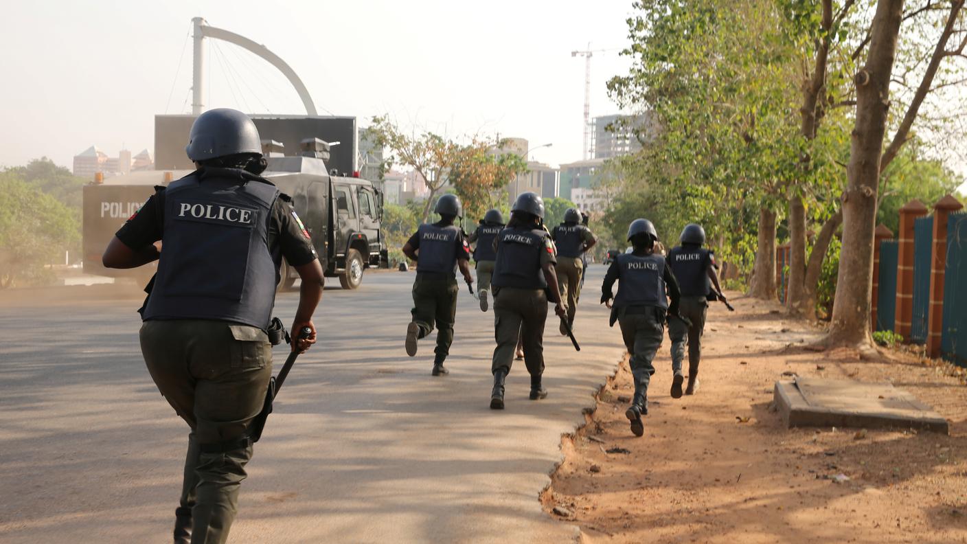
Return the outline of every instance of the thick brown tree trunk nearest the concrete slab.
<path id="1" fill-rule="evenodd" d="M 903 0 L 879 0 L 870 28 L 866 65 L 856 75 L 856 124 L 851 135 L 849 179 L 843 194 L 843 243 L 826 343 L 862 350 L 873 348 L 869 333 L 873 282 L 873 229 L 880 158 L 890 108 L 890 78 Z"/>

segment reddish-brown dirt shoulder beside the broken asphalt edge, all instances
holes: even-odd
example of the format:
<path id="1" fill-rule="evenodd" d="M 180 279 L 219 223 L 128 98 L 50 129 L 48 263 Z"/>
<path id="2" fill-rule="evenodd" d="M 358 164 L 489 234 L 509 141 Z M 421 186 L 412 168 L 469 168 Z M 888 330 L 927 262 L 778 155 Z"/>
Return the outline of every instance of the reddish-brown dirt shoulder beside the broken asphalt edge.
<path id="1" fill-rule="evenodd" d="M 734 314 L 710 310 L 696 395 L 669 396 L 665 339 L 643 438 L 624 415 L 633 388 L 622 361 L 588 424 L 565 438 L 545 509 L 585 542 L 967 542 L 963 369 L 913 353 L 811 352 L 817 327 L 777 305 L 733 303 Z M 784 372 L 891 381 L 948 418 L 951 435 L 786 430 L 771 407 Z"/>

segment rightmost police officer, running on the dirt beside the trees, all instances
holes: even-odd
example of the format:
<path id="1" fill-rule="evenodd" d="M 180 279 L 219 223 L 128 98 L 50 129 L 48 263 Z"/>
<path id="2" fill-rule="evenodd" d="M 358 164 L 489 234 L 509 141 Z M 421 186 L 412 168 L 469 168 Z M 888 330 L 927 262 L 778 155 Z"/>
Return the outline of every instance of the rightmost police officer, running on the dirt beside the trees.
<path id="1" fill-rule="evenodd" d="M 689 385 L 685 394 L 693 395 L 698 390 L 698 363 L 702 357 L 702 334 L 705 332 L 708 301 L 716 298 L 725 300 L 718 285 L 715 257 L 712 252 L 702 248 L 705 244 L 705 229 L 689 223 L 682 230 L 679 241 L 681 245 L 672 248 L 668 253 L 668 264 L 682 289 L 681 314 L 684 317 L 672 317 L 668 320 L 672 372 L 675 375 L 671 396 L 676 399 L 682 396 L 682 361 L 685 359 L 686 344 L 689 345 Z M 712 289 L 713 286 L 715 290 Z"/>

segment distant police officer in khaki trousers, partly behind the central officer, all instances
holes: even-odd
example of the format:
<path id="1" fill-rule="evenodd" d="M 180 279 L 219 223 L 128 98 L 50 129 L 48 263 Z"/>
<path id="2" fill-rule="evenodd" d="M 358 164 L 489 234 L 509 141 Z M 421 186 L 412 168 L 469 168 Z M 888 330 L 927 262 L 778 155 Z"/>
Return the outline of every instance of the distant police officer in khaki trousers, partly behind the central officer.
<path id="1" fill-rule="evenodd" d="M 584 261 L 581 256 L 598 243 L 591 229 L 581 225 L 581 212 L 568 208 L 564 212 L 564 223 L 554 227 L 551 238 L 557 246 L 557 283 L 561 287 L 561 298 L 566 299 L 568 324 L 574 326 L 577 313 L 577 299 L 581 296 L 581 276 Z M 561 334 L 568 334 L 565 324 L 561 323 Z"/>

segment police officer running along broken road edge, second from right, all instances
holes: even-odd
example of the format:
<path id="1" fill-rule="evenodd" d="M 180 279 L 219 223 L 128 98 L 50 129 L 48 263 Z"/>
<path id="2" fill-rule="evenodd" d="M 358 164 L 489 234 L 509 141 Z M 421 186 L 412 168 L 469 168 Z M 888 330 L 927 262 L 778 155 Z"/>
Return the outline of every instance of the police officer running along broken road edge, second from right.
<path id="1" fill-rule="evenodd" d="M 659 235 L 652 222 L 632 221 L 628 239 L 633 249 L 611 263 L 601 285 L 601 302 L 611 308 L 611 325 L 615 320 L 621 325 L 631 355 L 634 398 L 625 415 L 631 422 L 631 433 L 641 437 L 645 434 L 641 416 L 648 413 L 648 382 L 655 374 L 652 360 L 661 345 L 666 314 L 678 314 L 679 289 L 664 257 L 655 253 Z M 617 296 L 611 290 L 615 281 L 619 282 Z"/>

